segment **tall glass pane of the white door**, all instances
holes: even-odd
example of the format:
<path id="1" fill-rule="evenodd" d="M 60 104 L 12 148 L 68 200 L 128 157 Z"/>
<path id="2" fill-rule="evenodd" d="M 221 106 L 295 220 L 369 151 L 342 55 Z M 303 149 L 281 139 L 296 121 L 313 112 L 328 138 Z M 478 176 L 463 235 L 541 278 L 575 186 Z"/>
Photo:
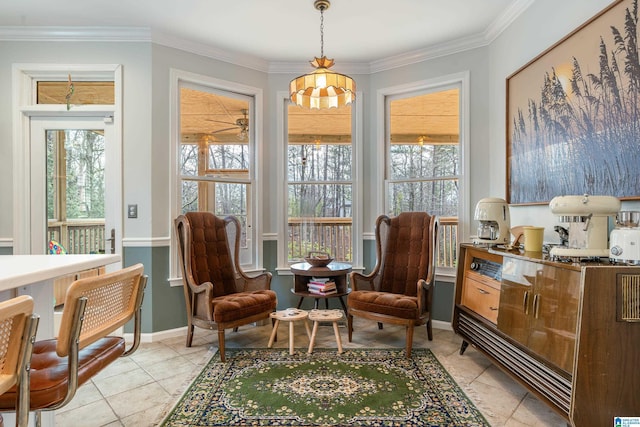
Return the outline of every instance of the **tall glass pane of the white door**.
<path id="1" fill-rule="evenodd" d="M 104 253 L 103 132 L 47 130 L 46 141 L 50 252 L 53 244 L 70 254 Z"/>

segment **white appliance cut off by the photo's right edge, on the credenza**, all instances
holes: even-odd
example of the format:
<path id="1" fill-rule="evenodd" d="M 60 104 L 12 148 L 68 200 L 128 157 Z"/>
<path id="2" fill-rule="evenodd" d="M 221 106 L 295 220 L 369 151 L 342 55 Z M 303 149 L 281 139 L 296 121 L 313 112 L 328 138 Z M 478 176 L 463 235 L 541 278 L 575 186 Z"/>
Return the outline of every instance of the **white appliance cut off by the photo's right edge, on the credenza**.
<path id="1" fill-rule="evenodd" d="M 640 211 L 616 214 L 616 228 L 609 236 L 609 259 L 615 263 L 640 265 Z"/>

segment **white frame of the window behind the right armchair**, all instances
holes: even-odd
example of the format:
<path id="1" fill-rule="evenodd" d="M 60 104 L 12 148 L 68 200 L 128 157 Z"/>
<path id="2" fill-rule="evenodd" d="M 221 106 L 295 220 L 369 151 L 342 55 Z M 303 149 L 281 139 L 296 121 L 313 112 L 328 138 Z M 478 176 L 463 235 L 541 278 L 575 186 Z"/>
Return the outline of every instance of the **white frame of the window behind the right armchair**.
<path id="1" fill-rule="evenodd" d="M 469 72 L 461 72 L 451 75 L 445 75 L 429 80 L 410 82 L 399 86 L 379 89 L 377 91 L 377 135 L 378 150 L 384 153 L 378 156 L 379 171 L 379 193 L 378 193 L 378 212 L 390 212 L 391 207 L 388 201 L 388 185 L 389 185 L 389 152 L 390 152 L 390 115 L 388 103 L 389 99 L 397 96 L 409 96 L 411 94 L 419 95 L 428 92 L 436 92 L 440 90 L 457 88 L 460 91 L 459 104 L 459 155 L 460 155 L 460 173 L 459 195 L 458 195 L 458 242 L 467 241 L 469 236 L 469 162 L 467 153 L 469 152 L 469 111 L 470 111 L 470 84 Z M 456 271 L 454 268 L 439 267 L 436 271 L 438 278 L 446 281 L 452 281 L 455 278 Z"/>

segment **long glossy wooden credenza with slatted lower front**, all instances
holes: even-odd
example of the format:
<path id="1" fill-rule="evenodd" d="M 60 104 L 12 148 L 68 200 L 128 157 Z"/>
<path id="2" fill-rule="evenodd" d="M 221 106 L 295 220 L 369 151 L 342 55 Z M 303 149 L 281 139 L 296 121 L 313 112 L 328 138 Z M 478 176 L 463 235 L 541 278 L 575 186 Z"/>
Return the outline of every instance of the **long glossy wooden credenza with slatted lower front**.
<path id="1" fill-rule="evenodd" d="M 640 267 L 462 244 L 453 329 L 571 425 L 640 416 Z"/>

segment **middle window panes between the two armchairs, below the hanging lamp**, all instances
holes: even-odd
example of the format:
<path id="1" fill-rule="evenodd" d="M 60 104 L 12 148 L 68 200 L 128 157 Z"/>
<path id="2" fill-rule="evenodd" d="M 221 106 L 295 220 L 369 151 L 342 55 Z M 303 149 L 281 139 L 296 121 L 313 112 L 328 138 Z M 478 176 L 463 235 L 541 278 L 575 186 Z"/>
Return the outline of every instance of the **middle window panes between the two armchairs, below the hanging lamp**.
<path id="1" fill-rule="evenodd" d="M 286 262 L 309 252 L 354 262 L 352 107 L 306 110 L 287 103 L 285 109 Z"/>

